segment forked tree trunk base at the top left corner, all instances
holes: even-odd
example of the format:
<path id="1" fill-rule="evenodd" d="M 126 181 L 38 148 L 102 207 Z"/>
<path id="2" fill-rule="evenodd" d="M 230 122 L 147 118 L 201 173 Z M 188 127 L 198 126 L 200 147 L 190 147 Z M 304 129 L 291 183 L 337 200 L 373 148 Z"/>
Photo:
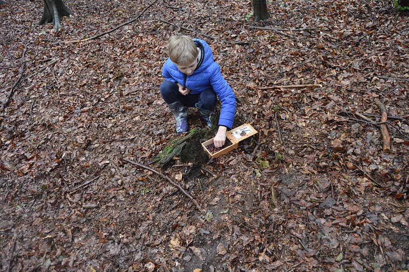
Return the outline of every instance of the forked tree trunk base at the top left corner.
<path id="1" fill-rule="evenodd" d="M 53 22 L 54 32 L 61 28 L 61 18 L 71 15 L 62 0 L 43 0 L 44 10 L 39 25 Z"/>

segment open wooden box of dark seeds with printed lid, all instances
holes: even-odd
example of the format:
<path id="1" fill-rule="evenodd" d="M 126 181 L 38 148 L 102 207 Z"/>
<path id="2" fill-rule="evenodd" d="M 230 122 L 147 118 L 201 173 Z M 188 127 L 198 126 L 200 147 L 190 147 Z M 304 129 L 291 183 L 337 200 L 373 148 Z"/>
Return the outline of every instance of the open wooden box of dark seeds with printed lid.
<path id="1" fill-rule="evenodd" d="M 257 130 L 250 124 L 244 124 L 229 130 L 226 133 L 226 142 L 222 147 L 215 147 L 213 140 L 214 138 L 201 143 L 205 152 L 208 153 L 209 157 L 217 158 L 239 146 L 239 142 L 256 134 Z"/>

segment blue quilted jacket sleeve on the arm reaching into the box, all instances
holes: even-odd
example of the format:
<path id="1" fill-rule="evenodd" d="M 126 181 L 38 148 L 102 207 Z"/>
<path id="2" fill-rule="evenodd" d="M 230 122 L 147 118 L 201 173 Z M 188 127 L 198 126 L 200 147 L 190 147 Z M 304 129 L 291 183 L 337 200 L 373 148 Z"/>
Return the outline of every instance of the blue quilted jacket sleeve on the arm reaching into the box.
<path id="1" fill-rule="evenodd" d="M 220 66 L 215 62 L 214 65 L 216 65 L 216 67 L 210 77 L 210 84 L 221 102 L 219 126 L 232 128 L 236 112 L 236 96 L 234 95 L 233 89 L 221 75 Z"/>

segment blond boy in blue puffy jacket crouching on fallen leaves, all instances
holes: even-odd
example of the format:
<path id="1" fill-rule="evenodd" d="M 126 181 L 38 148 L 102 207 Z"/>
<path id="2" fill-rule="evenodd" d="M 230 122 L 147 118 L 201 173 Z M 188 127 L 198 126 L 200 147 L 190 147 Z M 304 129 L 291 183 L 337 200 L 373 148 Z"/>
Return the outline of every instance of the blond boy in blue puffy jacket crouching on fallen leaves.
<path id="1" fill-rule="evenodd" d="M 201 119 L 211 127 L 210 116 L 219 98 L 221 110 L 214 145 L 223 146 L 226 131 L 233 126 L 236 98 L 221 75 L 220 66 L 213 61 L 209 44 L 188 36 L 172 36 L 169 39 L 168 55 L 162 71 L 165 81 L 160 90 L 176 119 L 177 133 L 189 130 L 185 107 L 198 108 Z"/>

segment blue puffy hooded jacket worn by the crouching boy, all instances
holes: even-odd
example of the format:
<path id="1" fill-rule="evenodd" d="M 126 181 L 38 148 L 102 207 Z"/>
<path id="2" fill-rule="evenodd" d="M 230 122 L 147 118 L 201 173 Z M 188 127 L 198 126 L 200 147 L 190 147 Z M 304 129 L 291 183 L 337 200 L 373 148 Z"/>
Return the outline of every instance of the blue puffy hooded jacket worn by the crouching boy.
<path id="1" fill-rule="evenodd" d="M 168 58 L 163 66 L 162 76 L 165 80 L 178 82 L 190 89 L 190 94 L 200 94 L 203 90 L 213 89 L 221 101 L 219 126 L 232 128 L 236 111 L 236 97 L 232 88 L 220 73 L 220 66 L 213 61 L 212 50 L 206 41 L 193 39 L 201 50 L 203 58 L 198 60 L 196 70 L 188 76 L 181 73 Z"/>

